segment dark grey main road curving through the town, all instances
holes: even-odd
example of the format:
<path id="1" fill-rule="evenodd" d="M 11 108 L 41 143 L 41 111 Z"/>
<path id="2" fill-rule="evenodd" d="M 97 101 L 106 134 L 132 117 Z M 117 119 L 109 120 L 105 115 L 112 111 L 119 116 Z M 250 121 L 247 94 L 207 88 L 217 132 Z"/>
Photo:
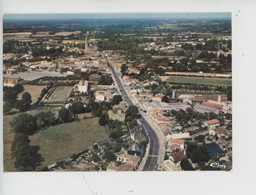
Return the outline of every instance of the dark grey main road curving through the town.
<path id="1" fill-rule="evenodd" d="M 127 95 L 127 92 L 122 85 L 120 78 L 118 77 L 117 73 L 115 72 L 114 68 L 110 65 L 110 68 L 113 72 L 113 75 L 115 77 L 115 80 L 117 82 L 117 85 L 120 89 L 120 92 L 122 93 L 122 96 L 124 100 L 128 103 L 128 105 L 134 105 L 129 96 Z M 157 160 L 159 158 L 159 140 L 157 138 L 157 135 L 153 128 L 148 124 L 148 122 L 145 120 L 145 118 L 142 116 L 141 122 L 144 125 L 144 128 L 148 132 L 149 135 L 149 142 L 150 142 L 150 148 L 149 148 L 149 157 L 147 158 L 147 161 L 145 163 L 143 171 L 154 171 L 157 168 Z"/>

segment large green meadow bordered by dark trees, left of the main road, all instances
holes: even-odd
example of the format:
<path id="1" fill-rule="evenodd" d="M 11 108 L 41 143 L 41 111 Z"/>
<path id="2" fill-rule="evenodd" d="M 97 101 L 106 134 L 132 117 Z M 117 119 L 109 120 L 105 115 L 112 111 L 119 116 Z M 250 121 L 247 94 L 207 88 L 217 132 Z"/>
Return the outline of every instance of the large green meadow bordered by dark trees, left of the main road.
<path id="1" fill-rule="evenodd" d="M 107 137 L 106 128 L 99 126 L 98 118 L 91 118 L 49 127 L 31 136 L 30 140 L 31 145 L 40 146 L 39 152 L 45 160 L 42 166 L 48 166 Z"/>

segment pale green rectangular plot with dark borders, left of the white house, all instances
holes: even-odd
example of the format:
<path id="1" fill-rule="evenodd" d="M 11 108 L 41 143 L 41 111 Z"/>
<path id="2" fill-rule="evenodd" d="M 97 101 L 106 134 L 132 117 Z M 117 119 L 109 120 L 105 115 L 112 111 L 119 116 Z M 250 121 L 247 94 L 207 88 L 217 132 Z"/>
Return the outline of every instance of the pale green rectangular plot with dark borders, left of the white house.
<path id="1" fill-rule="evenodd" d="M 53 94 L 45 102 L 63 102 L 65 103 L 66 99 L 69 97 L 72 86 L 59 86 L 55 89 Z"/>

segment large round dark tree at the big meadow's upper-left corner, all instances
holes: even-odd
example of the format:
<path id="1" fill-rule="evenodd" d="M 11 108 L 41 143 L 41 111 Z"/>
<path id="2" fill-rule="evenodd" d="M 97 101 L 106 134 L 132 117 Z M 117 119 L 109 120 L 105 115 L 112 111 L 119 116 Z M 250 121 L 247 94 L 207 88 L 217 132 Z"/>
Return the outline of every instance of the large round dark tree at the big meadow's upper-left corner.
<path id="1" fill-rule="evenodd" d="M 10 125 L 15 133 L 32 135 L 37 130 L 36 117 L 27 113 L 14 117 Z"/>

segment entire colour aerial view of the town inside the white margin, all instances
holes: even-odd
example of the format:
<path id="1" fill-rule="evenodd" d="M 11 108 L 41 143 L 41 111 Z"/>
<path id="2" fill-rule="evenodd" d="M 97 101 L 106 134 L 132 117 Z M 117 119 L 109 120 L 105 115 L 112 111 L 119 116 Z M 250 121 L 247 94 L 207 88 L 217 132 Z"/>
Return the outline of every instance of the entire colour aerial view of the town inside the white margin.
<path id="1" fill-rule="evenodd" d="M 4 171 L 231 170 L 231 15 L 96 16 L 4 15 Z"/>

